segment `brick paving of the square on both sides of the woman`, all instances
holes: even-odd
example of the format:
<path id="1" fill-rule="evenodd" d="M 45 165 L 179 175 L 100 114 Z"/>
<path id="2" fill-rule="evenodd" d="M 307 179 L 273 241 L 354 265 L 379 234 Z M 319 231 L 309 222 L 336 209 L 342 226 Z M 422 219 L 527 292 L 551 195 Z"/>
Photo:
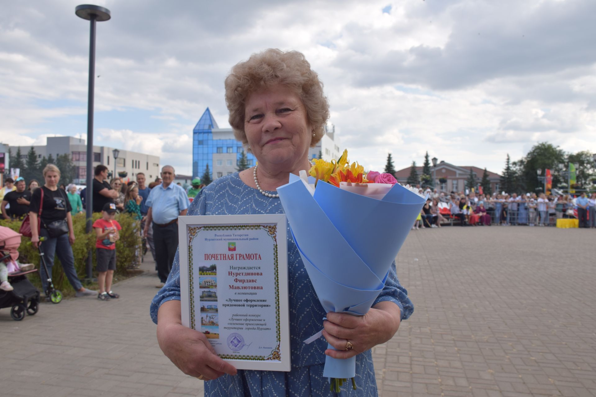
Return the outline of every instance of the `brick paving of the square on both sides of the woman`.
<path id="1" fill-rule="evenodd" d="M 539 227 L 410 233 L 398 274 L 415 311 L 374 348 L 379 395 L 596 396 L 595 240 Z M 42 304 L 20 322 L 0 310 L 0 395 L 202 396 L 157 346 L 157 277 L 143 266 L 114 286 L 120 299 Z"/>

